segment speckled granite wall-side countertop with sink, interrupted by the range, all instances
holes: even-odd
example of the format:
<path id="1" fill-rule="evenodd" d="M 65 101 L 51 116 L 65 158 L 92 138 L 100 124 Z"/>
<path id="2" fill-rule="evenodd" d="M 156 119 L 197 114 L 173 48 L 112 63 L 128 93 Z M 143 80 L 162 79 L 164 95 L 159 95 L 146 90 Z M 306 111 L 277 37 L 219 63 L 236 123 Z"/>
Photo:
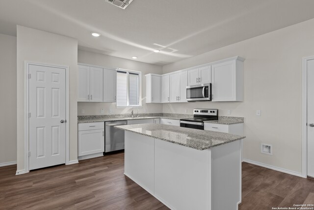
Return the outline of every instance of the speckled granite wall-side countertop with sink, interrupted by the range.
<path id="1" fill-rule="evenodd" d="M 184 119 L 184 118 L 193 118 L 193 115 L 153 113 L 153 114 L 140 114 L 139 117 L 133 117 L 133 118 L 131 118 L 130 114 L 124 114 L 124 115 L 88 115 L 88 116 L 78 116 L 78 123 L 120 121 L 120 120 L 143 120 L 143 119 L 156 119 L 156 118 L 180 120 L 180 119 Z M 218 116 L 218 120 L 209 120 L 209 121 L 205 121 L 205 122 L 215 123 L 215 124 L 235 124 L 235 123 L 244 122 L 244 118 Z"/>

